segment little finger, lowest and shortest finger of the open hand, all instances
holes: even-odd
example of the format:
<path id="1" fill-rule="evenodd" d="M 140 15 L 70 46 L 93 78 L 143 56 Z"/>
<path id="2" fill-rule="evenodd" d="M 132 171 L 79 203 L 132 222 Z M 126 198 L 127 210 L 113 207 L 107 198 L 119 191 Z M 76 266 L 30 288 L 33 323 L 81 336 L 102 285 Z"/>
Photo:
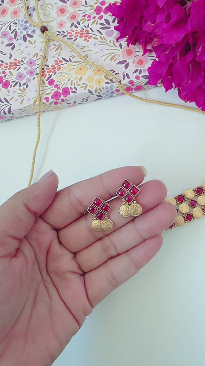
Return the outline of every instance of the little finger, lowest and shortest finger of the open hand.
<path id="1" fill-rule="evenodd" d="M 147 264 L 162 246 L 162 236 L 151 237 L 101 267 L 85 274 L 87 296 L 92 307 Z"/>

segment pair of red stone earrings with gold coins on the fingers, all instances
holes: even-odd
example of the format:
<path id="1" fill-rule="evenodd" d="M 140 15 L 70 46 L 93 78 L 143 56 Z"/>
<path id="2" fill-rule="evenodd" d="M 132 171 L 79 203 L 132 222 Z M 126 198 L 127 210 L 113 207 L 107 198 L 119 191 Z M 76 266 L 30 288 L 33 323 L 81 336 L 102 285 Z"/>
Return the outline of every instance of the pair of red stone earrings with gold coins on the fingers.
<path id="1" fill-rule="evenodd" d="M 140 216 L 142 207 L 136 202 L 135 197 L 140 189 L 127 179 L 121 184 L 116 194 L 122 199 L 123 205 L 120 207 L 120 215 L 123 217 Z M 109 231 L 113 229 L 114 223 L 108 219 L 108 211 L 111 206 L 103 199 L 96 197 L 88 207 L 87 212 L 94 216 L 92 228 L 96 231 Z"/>

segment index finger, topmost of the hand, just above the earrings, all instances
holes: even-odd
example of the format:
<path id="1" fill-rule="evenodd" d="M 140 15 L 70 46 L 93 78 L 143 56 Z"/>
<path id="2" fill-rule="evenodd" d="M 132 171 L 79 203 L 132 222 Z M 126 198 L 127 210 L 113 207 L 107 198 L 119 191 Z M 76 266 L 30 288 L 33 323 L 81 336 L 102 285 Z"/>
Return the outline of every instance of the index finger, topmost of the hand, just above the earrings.
<path id="1" fill-rule="evenodd" d="M 62 229 L 82 216 L 95 197 L 108 200 L 115 196 L 125 178 L 140 184 L 144 173 L 140 167 L 123 167 L 64 188 L 57 192 L 43 219 L 56 229 Z"/>

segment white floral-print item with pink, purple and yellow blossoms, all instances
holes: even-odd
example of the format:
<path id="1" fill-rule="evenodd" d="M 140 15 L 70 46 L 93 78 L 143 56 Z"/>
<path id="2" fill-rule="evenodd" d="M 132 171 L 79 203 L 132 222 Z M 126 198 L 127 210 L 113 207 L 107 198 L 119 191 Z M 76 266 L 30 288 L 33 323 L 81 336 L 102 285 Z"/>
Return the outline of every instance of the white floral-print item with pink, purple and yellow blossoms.
<path id="1" fill-rule="evenodd" d="M 114 2 L 111 0 L 109 2 Z M 147 68 L 155 58 L 141 46 L 117 42 L 116 18 L 105 0 L 39 0 L 49 32 L 84 57 L 109 70 L 129 92 L 148 88 Z M 27 6 L 38 23 L 34 1 Z M 26 18 L 22 0 L 0 0 L 0 121 L 37 113 L 37 78 L 44 36 Z M 42 111 L 111 97 L 122 92 L 98 68 L 49 39 L 41 77 Z"/>

